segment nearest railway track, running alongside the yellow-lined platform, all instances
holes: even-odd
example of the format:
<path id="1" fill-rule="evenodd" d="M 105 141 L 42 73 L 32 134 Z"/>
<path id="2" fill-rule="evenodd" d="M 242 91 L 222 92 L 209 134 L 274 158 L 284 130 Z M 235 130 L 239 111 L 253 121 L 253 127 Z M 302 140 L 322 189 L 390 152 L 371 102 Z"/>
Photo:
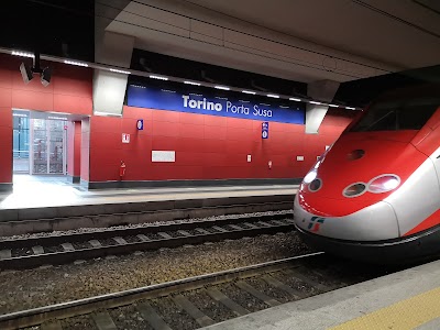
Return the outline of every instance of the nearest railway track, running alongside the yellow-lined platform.
<path id="1" fill-rule="evenodd" d="M 0 316 L 1 329 L 197 329 L 385 274 L 321 252 Z"/>

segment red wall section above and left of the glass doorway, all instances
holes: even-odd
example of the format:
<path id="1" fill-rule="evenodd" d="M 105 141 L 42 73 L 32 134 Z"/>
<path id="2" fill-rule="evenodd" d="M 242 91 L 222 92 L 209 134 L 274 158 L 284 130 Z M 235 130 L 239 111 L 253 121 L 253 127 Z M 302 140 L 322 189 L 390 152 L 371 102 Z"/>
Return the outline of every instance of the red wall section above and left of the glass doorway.
<path id="1" fill-rule="evenodd" d="M 22 62 L 31 64 L 32 59 L 0 54 L 0 184 L 12 183 L 13 108 L 86 116 L 92 110 L 90 69 L 51 63 L 51 84 L 44 87 L 37 75 L 28 85 L 23 82 Z"/>

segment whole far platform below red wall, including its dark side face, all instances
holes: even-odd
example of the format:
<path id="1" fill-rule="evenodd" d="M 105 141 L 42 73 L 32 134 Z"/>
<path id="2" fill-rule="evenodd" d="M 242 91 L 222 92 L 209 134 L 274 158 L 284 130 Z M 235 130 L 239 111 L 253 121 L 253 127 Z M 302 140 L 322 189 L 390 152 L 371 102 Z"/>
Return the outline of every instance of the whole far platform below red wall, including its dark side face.
<path id="1" fill-rule="evenodd" d="M 67 179 L 14 177 L 0 195 L 0 222 L 101 213 L 294 201 L 298 186 L 204 186 L 86 190 Z"/>

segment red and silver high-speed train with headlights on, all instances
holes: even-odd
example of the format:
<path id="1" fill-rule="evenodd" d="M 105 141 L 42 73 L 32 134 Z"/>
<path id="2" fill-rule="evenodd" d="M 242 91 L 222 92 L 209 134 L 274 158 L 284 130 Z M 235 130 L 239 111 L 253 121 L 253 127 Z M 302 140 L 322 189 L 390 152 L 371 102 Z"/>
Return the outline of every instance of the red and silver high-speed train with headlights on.
<path id="1" fill-rule="evenodd" d="M 440 86 L 394 90 L 353 120 L 295 197 L 304 241 L 366 262 L 440 254 Z"/>

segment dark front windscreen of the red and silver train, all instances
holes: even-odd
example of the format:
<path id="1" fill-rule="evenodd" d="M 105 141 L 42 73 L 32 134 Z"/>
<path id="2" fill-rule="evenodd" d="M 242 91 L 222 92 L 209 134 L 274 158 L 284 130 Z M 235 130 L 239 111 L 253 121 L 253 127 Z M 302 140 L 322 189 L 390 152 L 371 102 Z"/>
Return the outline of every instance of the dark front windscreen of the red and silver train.
<path id="1" fill-rule="evenodd" d="M 350 132 L 420 130 L 440 107 L 440 99 L 378 101 Z"/>

